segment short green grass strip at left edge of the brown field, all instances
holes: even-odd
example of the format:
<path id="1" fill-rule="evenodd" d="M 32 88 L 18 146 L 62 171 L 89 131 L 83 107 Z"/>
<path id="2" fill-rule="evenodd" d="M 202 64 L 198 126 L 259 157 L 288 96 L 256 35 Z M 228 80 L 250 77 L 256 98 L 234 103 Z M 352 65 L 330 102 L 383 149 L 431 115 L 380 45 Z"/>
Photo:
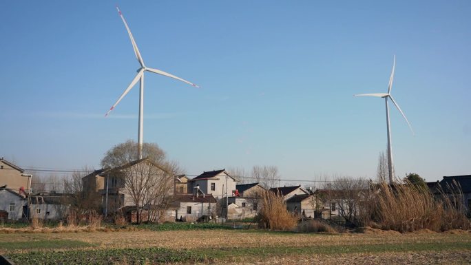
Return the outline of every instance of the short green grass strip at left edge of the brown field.
<path id="1" fill-rule="evenodd" d="M 3 250 L 31 248 L 81 248 L 85 246 L 94 245 L 79 240 L 34 240 L 21 242 L 0 242 L 0 249 Z"/>

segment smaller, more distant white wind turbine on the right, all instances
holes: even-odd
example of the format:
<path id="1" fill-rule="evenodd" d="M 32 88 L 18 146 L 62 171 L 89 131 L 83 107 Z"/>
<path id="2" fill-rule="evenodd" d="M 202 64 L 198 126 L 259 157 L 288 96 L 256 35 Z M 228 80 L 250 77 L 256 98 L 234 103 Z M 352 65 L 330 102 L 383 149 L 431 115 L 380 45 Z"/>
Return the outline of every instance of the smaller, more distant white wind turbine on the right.
<path id="1" fill-rule="evenodd" d="M 388 169 L 389 169 L 389 183 L 392 183 L 392 178 L 394 178 L 394 165 L 392 163 L 392 147 L 391 147 L 391 127 L 389 121 L 389 107 L 388 107 L 388 98 L 391 99 L 392 103 L 397 107 L 397 110 L 401 112 L 404 119 L 406 119 L 407 124 L 409 125 L 410 131 L 412 131 L 412 135 L 414 135 L 414 130 L 412 126 L 410 126 L 409 120 L 407 120 L 406 115 L 402 112 L 401 107 L 397 105 L 396 100 L 392 98 L 391 89 L 392 89 L 392 79 L 394 78 L 394 70 L 396 66 L 396 56 L 394 56 L 394 62 L 392 63 L 392 72 L 389 78 L 389 85 L 388 85 L 388 93 L 376 93 L 376 94 L 357 94 L 355 96 L 376 96 L 378 98 L 384 98 L 384 102 L 386 103 L 386 127 L 388 129 Z"/>

